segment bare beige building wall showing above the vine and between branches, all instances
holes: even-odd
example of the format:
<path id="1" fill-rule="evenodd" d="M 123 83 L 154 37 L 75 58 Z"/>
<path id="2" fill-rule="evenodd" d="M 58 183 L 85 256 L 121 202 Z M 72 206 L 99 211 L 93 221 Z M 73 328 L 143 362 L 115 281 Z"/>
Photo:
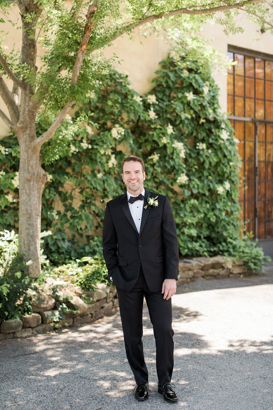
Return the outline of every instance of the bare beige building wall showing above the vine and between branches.
<path id="1" fill-rule="evenodd" d="M 15 14 L 14 14 L 15 16 Z M 15 17 L 14 17 L 15 18 Z M 212 45 L 221 50 L 223 54 L 227 53 L 228 44 L 266 52 L 273 55 L 273 41 L 269 32 L 264 34 L 256 33 L 260 29 L 258 25 L 246 20 L 243 16 L 239 19 L 245 31 L 242 34 L 226 36 L 222 28 L 211 23 L 203 26 L 202 35 L 207 39 L 213 39 Z M 19 32 L 10 30 L 9 36 L 5 40 L 7 46 L 13 46 L 14 42 L 19 44 Z M 260 41 L 255 41 L 255 38 L 260 38 Z M 167 56 L 169 44 L 162 40 L 156 40 L 152 36 L 145 39 L 138 33 L 134 36 L 135 41 L 132 43 L 128 37 L 117 39 L 113 42 L 113 46 L 106 48 L 106 57 L 110 57 L 113 53 L 117 54 L 122 60 L 121 64 L 117 64 L 116 69 L 120 72 L 127 73 L 132 87 L 138 93 L 146 93 L 151 89 L 151 80 L 154 77 L 154 72 L 159 68 L 158 62 Z M 140 43 L 142 41 L 142 44 Z M 41 52 L 41 50 L 40 50 Z M 225 73 L 216 73 L 214 78 L 219 84 L 221 95 L 220 104 L 223 112 L 227 109 L 227 78 Z M 9 83 L 11 86 L 11 83 Z M 7 113 L 2 100 L 0 99 L 0 108 Z M 6 135 L 8 128 L 0 122 L 0 136 Z"/>

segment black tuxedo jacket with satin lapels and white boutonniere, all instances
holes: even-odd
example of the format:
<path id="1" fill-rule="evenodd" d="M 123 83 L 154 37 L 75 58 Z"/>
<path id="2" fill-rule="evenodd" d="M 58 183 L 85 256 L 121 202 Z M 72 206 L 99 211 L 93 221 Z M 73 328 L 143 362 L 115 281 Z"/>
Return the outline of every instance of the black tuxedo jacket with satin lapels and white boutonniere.
<path id="1" fill-rule="evenodd" d="M 158 196 L 158 206 L 147 198 Z M 140 266 L 151 292 L 160 292 L 164 279 L 178 277 L 178 241 L 174 217 L 167 196 L 145 189 L 140 233 L 133 221 L 127 194 L 106 205 L 103 227 L 103 255 L 114 285 L 131 290 Z"/>

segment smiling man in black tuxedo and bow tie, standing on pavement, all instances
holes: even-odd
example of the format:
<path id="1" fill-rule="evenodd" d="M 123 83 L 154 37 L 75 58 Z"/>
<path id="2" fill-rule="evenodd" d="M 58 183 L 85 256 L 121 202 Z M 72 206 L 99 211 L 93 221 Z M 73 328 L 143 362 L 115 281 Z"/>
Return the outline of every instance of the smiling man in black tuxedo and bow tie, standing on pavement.
<path id="1" fill-rule="evenodd" d="M 122 162 L 127 192 L 106 205 L 103 255 L 108 275 L 117 288 L 126 355 L 137 384 L 135 398 L 148 398 L 148 371 L 142 345 L 145 296 L 156 340 L 158 392 L 177 401 L 171 375 L 174 331 L 171 296 L 178 277 L 178 241 L 166 196 L 144 189 L 145 167 L 131 155 Z"/>

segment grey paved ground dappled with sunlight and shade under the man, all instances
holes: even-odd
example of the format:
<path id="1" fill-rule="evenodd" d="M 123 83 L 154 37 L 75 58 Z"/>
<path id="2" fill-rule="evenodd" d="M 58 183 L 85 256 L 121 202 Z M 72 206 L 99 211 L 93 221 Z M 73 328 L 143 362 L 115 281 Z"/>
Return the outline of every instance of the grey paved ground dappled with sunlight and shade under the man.
<path id="1" fill-rule="evenodd" d="M 148 401 L 138 403 L 119 313 L 0 344 L 0 409 L 273 410 L 273 264 L 259 276 L 202 280 L 173 297 L 176 404 L 156 392 L 144 310 Z"/>

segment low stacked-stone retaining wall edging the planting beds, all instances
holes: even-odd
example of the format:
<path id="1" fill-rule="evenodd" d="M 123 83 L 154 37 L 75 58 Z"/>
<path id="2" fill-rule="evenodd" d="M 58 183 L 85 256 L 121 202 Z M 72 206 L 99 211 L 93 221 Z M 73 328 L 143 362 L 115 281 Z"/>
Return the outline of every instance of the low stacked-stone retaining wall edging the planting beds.
<path id="1" fill-rule="evenodd" d="M 196 278 L 229 278 L 251 273 L 243 261 L 234 262 L 231 258 L 221 255 L 211 258 L 181 259 L 177 285 L 183 285 L 196 280 Z M 2 323 L 0 319 L 0 340 L 27 337 L 65 326 L 92 323 L 115 311 L 118 307 L 117 291 L 113 284 L 110 286 L 97 284 L 97 290 L 93 292 L 79 292 L 79 289 L 72 291 L 68 289 L 67 285 L 67 282 L 52 280 L 48 286 L 48 292 L 32 295 L 33 313 L 23 316 L 21 319 L 9 319 L 2 321 Z M 56 309 L 54 310 L 56 301 L 52 297 L 53 289 L 57 290 L 58 294 L 70 296 L 70 300 L 65 301 L 65 304 L 71 310 L 64 313 L 65 319 L 61 319 L 59 322 L 54 322 L 57 312 Z M 86 303 L 83 299 L 90 303 Z"/>

